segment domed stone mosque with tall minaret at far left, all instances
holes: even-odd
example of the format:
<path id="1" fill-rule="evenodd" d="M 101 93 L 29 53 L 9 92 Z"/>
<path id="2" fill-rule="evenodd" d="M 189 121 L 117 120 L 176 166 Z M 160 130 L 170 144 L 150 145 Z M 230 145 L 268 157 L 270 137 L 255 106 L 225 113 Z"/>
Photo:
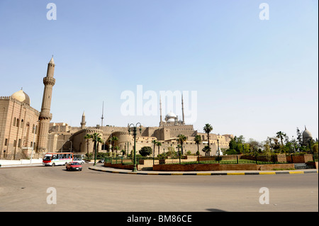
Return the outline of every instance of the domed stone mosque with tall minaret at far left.
<path id="1" fill-rule="evenodd" d="M 54 72 L 52 57 L 43 78 L 45 87 L 40 112 L 30 106 L 30 97 L 22 89 L 11 96 L 0 96 L 0 159 L 28 158 L 32 150 L 36 158 L 47 152 Z"/>

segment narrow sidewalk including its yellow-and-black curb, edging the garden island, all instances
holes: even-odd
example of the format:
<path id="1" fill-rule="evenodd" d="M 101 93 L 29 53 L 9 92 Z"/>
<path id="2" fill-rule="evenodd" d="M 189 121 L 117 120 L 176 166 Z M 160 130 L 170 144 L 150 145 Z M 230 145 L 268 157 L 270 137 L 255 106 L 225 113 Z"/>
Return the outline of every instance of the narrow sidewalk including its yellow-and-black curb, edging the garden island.
<path id="1" fill-rule="evenodd" d="M 184 175 L 184 176 L 220 176 L 220 175 L 274 175 L 274 174 L 318 174 L 318 169 L 298 169 L 281 171 L 137 171 L 115 169 L 103 165 L 89 166 L 89 169 L 113 174 L 138 175 Z"/>

